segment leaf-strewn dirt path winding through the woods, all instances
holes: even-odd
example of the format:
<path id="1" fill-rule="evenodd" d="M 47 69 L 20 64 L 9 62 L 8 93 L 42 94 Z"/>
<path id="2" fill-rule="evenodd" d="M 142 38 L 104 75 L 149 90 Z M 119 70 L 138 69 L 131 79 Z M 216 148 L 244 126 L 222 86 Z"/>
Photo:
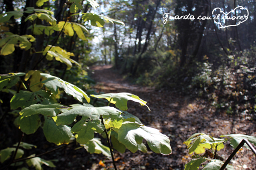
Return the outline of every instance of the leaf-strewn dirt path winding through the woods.
<path id="1" fill-rule="evenodd" d="M 214 137 L 231 133 L 256 135 L 255 122 L 246 119 L 248 117 L 237 117 L 224 113 L 216 114 L 208 101 L 181 96 L 173 91 L 133 85 L 125 81 L 118 72 L 111 68 L 111 65 L 93 66 L 90 69 L 93 70 L 92 78 L 97 81 L 94 86 L 97 91 L 105 93 L 130 92 L 148 101 L 147 105 L 151 111 L 146 106 L 140 106 L 140 104 L 131 101 L 128 102 L 129 109 L 127 111 L 138 116 L 145 125 L 160 129 L 171 140 L 173 152 L 170 155 L 161 155 L 152 151 L 132 153 L 127 149 L 123 154 L 115 152 L 120 170 L 184 169 L 184 164 L 190 161 L 191 155 L 188 154 L 188 149 L 183 142 L 196 132 L 211 134 Z M 228 145 L 218 154 L 225 160 L 231 151 L 232 148 Z M 106 158 L 104 159 L 105 168 L 111 169 L 111 162 Z M 235 155 L 231 163 L 235 169 L 253 169 L 256 167 L 254 160 L 255 155 L 243 148 Z M 96 164 L 92 169 L 101 169 L 101 166 Z"/>

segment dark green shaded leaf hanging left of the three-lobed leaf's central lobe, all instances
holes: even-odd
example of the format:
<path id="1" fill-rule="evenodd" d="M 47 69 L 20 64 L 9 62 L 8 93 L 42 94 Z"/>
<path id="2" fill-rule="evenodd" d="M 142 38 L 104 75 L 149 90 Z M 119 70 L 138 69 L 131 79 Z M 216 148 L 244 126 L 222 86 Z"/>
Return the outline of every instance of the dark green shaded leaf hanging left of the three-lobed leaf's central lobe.
<path id="1" fill-rule="evenodd" d="M 43 130 L 47 141 L 57 145 L 68 144 L 72 137 L 70 129 L 71 128 L 66 125 L 57 125 L 52 117 L 45 116 Z"/>

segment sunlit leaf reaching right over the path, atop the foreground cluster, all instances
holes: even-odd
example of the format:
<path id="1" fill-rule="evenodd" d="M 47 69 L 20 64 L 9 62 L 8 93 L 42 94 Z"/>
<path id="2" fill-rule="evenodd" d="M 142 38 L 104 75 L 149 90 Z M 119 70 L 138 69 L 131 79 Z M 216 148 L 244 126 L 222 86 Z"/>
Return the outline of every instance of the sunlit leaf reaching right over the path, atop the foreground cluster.
<path id="1" fill-rule="evenodd" d="M 115 104 L 115 106 L 121 110 L 127 110 L 127 101 L 133 100 L 135 102 L 139 102 L 141 105 L 146 105 L 147 101 L 142 100 L 139 96 L 128 93 L 128 92 L 119 92 L 119 93 L 106 93 L 100 95 L 91 94 L 91 96 L 96 98 L 106 98 L 111 103 Z M 150 110 L 150 108 L 149 108 Z"/>

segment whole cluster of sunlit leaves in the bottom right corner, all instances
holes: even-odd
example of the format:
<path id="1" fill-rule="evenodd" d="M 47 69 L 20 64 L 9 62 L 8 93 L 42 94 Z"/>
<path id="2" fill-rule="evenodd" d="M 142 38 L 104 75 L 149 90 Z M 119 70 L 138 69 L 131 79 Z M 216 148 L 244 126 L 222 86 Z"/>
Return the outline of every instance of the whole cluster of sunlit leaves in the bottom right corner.
<path id="1" fill-rule="evenodd" d="M 254 136 L 244 134 L 225 134 L 220 135 L 220 137 L 229 137 L 229 139 L 215 138 L 204 133 L 195 133 L 184 141 L 184 144 L 186 144 L 189 149 L 189 154 L 194 152 L 194 155 L 191 156 L 192 160 L 185 164 L 185 170 L 200 169 L 200 164 L 205 161 L 207 161 L 207 164 L 203 165 L 204 170 L 220 169 L 224 162 L 223 158 L 217 154 L 217 151 L 223 149 L 225 146 L 224 143 L 227 141 L 229 141 L 233 148 L 236 148 L 242 139 L 247 139 L 256 146 L 256 137 Z M 244 146 L 249 148 L 247 144 Z M 226 168 L 230 170 L 234 169 L 230 164 L 228 164 Z"/>

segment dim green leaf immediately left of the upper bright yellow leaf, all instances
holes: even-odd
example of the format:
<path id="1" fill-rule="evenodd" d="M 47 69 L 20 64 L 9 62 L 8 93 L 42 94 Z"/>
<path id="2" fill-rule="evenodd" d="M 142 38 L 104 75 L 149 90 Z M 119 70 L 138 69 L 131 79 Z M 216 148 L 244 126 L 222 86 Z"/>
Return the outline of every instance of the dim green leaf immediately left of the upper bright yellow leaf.
<path id="1" fill-rule="evenodd" d="M 54 30 L 61 31 L 61 29 L 58 27 L 58 25 L 45 26 L 45 25 L 35 24 L 34 27 L 33 27 L 33 25 L 31 25 L 28 27 L 28 29 L 33 29 L 33 33 L 35 35 L 41 35 L 41 34 L 45 33 L 48 36 L 50 36 L 54 32 Z"/>

